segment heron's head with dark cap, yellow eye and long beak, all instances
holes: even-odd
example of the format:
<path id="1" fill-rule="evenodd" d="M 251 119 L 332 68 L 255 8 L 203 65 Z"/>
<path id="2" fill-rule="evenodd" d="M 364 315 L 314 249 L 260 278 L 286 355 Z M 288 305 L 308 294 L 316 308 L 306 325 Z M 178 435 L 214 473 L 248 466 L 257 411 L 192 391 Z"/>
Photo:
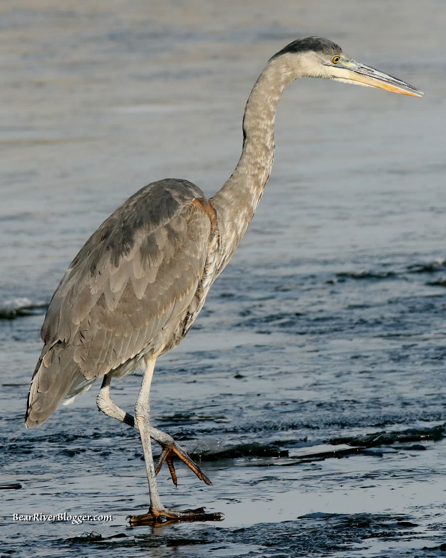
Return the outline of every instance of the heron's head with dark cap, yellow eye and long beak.
<path id="1" fill-rule="evenodd" d="M 295 77 L 327 78 L 344 83 L 386 89 L 394 93 L 421 97 L 422 91 L 405 81 L 353 60 L 336 43 L 322 37 L 306 37 L 285 46 L 273 56 L 299 56 Z"/>

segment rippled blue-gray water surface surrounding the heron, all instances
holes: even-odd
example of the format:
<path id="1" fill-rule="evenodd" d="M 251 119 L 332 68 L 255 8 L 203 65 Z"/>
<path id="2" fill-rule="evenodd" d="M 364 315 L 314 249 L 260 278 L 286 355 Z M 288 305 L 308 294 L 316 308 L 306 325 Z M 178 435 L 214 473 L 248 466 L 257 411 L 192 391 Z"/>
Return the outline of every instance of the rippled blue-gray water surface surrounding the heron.
<path id="1" fill-rule="evenodd" d="M 1 555 L 444 554 L 446 10 L 408 6 L 0 6 Z M 225 519 L 129 528 L 147 508 L 142 450 L 96 411 L 96 386 L 23 426 L 45 306 L 139 187 L 176 176 L 214 193 L 264 62 L 310 34 L 426 96 L 287 90 L 255 219 L 152 387 L 154 422 L 213 482 L 178 465 L 175 489 L 163 470 L 163 502 Z M 112 386 L 128 411 L 140 379 Z M 113 521 L 12 520 L 64 512 Z"/>

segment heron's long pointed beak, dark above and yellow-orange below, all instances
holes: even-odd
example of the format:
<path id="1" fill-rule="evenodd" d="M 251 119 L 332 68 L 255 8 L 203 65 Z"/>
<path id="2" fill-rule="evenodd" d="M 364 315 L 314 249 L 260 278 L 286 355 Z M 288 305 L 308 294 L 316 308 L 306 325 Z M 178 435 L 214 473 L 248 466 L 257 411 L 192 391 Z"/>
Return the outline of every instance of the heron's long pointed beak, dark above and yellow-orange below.
<path id="1" fill-rule="evenodd" d="M 377 87 L 402 95 L 411 95 L 412 97 L 423 97 L 424 93 L 416 89 L 413 85 L 394 78 L 391 75 L 382 73 L 382 71 L 370 68 L 355 60 L 341 60 L 339 66 L 330 66 L 333 79 L 346 81 L 347 83 L 357 83 L 358 85 L 366 85 L 369 87 Z"/>

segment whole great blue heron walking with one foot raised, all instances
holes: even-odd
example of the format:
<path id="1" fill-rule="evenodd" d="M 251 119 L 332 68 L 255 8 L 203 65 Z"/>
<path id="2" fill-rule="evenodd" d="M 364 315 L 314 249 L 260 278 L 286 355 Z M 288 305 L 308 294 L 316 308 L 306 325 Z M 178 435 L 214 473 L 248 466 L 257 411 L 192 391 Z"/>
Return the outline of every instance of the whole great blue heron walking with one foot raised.
<path id="1" fill-rule="evenodd" d="M 54 293 L 41 336 L 45 346 L 32 377 L 26 426 L 45 422 L 59 403 L 103 378 L 97 398 L 106 415 L 140 432 L 149 484 L 147 514 L 130 524 L 220 519 L 203 508 L 163 506 L 156 477 L 164 461 L 176 484 L 172 455 L 210 480 L 171 436 L 149 422 L 149 389 L 157 357 L 175 347 L 200 312 L 212 283 L 243 238 L 273 164 L 274 116 L 280 96 L 305 76 L 423 95 L 413 86 L 359 64 L 334 42 L 299 39 L 266 64 L 243 118 L 243 151 L 229 180 L 210 199 L 187 180 L 152 182 L 100 225 L 71 262 Z M 110 397 L 110 380 L 144 369 L 135 416 Z M 156 466 L 151 438 L 162 447 Z"/>

